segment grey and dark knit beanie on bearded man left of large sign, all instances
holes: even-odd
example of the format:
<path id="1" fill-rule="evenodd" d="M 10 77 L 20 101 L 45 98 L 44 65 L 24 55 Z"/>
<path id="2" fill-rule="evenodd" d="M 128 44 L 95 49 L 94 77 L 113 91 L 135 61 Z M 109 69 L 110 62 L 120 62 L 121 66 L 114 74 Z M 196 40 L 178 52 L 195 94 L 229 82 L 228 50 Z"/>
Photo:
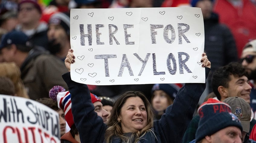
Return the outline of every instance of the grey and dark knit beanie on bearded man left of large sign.
<path id="1" fill-rule="evenodd" d="M 62 12 L 53 14 L 50 17 L 49 24 L 61 25 L 67 35 L 70 34 L 70 17 Z"/>

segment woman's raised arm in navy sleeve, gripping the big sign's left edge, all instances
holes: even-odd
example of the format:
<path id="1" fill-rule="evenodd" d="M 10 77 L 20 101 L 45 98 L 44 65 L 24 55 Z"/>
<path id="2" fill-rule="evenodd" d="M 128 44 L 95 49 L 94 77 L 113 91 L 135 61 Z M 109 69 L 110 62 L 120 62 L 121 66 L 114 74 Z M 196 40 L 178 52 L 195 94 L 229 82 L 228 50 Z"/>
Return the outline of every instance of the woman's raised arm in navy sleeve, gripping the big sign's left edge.
<path id="1" fill-rule="evenodd" d="M 72 52 L 72 49 L 70 49 L 65 59 L 65 65 L 68 71 L 70 71 L 70 64 L 75 62 L 75 56 Z M 94 111 L 94 105 L 91 102 L 90 91 L 87 85 L 72 81 L 70 72 L 62 75 L 62 78 L 69 87 L 72 114 L 81 141 L 103 142 L 107 126 L 103 123 L 102 118 Z"/>

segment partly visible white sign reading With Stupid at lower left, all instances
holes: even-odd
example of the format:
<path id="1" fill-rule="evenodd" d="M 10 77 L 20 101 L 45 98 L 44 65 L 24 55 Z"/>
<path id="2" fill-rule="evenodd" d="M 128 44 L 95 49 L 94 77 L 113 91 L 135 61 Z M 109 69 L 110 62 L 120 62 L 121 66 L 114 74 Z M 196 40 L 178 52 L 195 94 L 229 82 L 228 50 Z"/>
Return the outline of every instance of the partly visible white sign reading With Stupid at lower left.
<path id="1" fill-rule="evenodd" d="M 56 111 L 31 99 L 0 95 L 0 142 L 59 143 L 59 138 Z"/>

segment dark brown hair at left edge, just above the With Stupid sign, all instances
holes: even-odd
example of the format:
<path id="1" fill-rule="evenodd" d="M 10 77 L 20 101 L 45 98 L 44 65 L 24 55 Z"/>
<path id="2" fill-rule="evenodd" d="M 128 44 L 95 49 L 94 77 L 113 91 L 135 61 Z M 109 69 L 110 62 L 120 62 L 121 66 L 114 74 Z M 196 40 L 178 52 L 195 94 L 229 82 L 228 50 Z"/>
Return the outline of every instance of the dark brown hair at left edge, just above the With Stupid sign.
<path id="1" fill-rule="evenodd" d="M 0 77 L 0 94 L 15 95 L 15 86 L 10 78 Z"/>

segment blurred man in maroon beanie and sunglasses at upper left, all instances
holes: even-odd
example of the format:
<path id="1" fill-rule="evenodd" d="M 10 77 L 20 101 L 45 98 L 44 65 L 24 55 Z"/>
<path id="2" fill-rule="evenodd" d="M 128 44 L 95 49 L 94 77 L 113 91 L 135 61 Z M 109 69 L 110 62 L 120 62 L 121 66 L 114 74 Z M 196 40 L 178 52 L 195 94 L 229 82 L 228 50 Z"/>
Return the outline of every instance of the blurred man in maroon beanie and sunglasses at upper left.
<path id="1" fill-rule="evenodd" d="M 18 4 L 19 23 L 15 30 L 24 32 L 34 45 L 46 48 L 48 25 L 41 22 L 42 10 L 36 0 L 23 0 Z"/>

